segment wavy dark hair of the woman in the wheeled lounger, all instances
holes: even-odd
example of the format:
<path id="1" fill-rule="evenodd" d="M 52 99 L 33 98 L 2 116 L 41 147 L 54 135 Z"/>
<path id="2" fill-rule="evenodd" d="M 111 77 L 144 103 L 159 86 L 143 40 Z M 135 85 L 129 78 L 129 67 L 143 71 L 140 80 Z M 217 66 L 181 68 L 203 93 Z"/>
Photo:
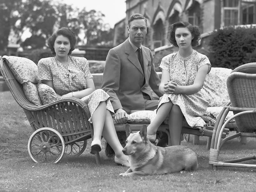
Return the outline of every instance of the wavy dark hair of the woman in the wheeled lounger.
<path id="1" fill-rule="evenodd" d="M 51 52 L 53 55 L 56 55 L 56 52 L 54 50 L 54 42 L 57 38 L 57 36 L 64 36 L 67 37 L 69 42 L 70 42 L 70 47 L 71 49 L 68 52 L 68 55 L 71 54 L 71 52 L 75 49 L 75 45 L 76 45 L 76 36 L 74 31 L 72 31 L 70 28 L 67 27 L 62 27 L 60 29 L 58 29 L 57 32 L 53 33 L 48 39 L 47 39 L 47 44 L 48 47 L 51 49 Z"/>

